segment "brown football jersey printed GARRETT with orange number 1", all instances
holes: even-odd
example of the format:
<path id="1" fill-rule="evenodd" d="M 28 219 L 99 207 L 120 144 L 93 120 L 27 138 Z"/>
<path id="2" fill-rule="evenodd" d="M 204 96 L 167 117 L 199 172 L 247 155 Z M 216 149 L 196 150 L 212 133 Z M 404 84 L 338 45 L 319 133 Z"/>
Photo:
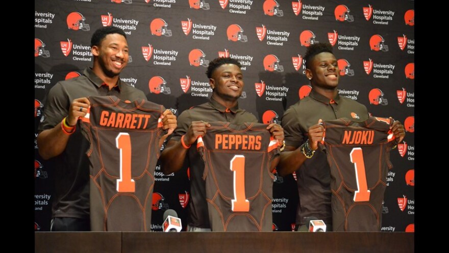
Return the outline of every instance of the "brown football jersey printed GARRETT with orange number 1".
<path id="1" fill-rule="evenodd" d="M 90 141 L 92 231 L 150 231 L 164 107 L 144 99 L 90 96 L 82 128 Z"/>

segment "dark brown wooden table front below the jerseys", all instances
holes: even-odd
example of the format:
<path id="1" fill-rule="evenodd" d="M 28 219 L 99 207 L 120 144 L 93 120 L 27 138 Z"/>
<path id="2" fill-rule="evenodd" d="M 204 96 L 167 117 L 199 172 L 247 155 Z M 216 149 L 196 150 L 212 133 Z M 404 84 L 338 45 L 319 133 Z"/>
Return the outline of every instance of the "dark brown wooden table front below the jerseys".
<path id="1" fill-rule="evenodd" d="M 414 252 L 405 232 L 35 232 L 35 252 Z"/>

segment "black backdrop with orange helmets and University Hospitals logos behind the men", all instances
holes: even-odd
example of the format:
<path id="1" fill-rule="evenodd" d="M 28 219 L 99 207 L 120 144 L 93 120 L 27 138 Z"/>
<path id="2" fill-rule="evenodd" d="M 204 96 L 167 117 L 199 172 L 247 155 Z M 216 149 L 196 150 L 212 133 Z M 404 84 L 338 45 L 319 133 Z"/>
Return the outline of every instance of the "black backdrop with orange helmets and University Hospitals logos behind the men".
<path id="1" fill-rule="evenodd" d="M 303 56 L 329 42 L 340 68 L 339 94 L 393 117 L 407 135 L 391 151 L 382 231 L 414 231 L 414 1 L 331 0 L 35 0 L 35 231 L 49 231 L 55 196 L 52 161 L 38 154 L 45 94 L 91 67 L 92 33 L 124 30 L 130 46 L 122 81 L 179 115 L 207 102 L 209 61 L 243 65 L 241 108 L 260 122 L 281 119 L 310 91 Z M 158 87 L 164 87 L 163 92 Z M 156 167 L 152 230 L 175 210 L 187 225 L 189 168 L 169 175 Z M 295 174 L 273 186 L 273 231 L 291 231 L 298 202 Z"/>

